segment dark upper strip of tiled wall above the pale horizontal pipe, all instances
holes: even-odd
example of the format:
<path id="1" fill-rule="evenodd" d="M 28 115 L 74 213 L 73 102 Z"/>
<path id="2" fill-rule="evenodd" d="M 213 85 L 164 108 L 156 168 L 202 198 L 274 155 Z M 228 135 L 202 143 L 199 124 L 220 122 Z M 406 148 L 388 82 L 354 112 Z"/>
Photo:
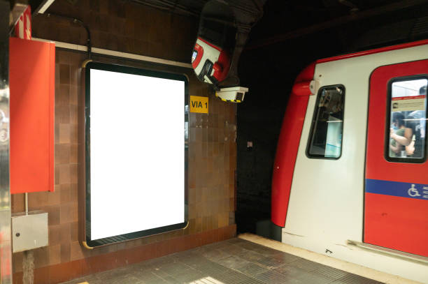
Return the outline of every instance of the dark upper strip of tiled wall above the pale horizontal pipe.
<path id="1" fill-rule="evenodd" d="M 190 62 L 198 29 L 197 18 L 124 0 L 56 0 L 48 12 L 82 20 L 93 47 L 183 62 Z M 33 17 L 34 37 L 86 45 L 80 24 L 45 15 Z"/>

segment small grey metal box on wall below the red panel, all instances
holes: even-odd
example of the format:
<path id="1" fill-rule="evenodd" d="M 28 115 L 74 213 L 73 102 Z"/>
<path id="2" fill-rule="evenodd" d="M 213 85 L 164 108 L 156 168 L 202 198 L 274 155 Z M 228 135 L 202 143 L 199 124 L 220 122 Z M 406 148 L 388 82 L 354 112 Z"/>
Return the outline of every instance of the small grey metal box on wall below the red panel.
<path id="1" fill-rule="evenodd" d="M 48 213 L 31 211 L 12 216 L 12 251 L 29 251 L 48 246 Z"/>

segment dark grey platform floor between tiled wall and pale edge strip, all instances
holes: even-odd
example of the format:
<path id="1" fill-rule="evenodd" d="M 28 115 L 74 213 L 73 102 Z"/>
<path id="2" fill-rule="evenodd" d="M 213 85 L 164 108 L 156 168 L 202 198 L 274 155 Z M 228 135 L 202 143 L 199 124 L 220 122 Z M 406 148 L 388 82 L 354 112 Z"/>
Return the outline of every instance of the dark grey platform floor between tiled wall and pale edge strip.
<path id="1" fill-rule="evenodd" d="M 63 284 L 376 284 L 369 278 L 273 250 L 229 239 Z"/>

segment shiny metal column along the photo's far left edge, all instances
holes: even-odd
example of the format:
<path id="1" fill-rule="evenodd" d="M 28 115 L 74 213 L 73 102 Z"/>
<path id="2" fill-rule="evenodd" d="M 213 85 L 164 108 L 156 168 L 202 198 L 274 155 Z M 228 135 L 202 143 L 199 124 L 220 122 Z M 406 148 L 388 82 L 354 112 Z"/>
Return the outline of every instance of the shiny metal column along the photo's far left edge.
<path id="1" fill-rule="evenodd" d="M 0 283 L 12 283 L 9 190 L 9 18 L 10 3 L 0 0 Z"/>

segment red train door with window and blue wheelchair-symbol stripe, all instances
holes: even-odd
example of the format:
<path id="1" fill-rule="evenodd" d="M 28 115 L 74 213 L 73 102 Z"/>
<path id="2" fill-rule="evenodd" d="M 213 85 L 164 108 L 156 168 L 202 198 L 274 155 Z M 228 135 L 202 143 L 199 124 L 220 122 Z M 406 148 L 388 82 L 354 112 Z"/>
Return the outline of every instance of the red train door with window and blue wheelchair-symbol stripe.
<path id="1" fill-rule="evenodd" d="M 364 242 L 428 257 L 428 60 L 370 77 Z"/>

